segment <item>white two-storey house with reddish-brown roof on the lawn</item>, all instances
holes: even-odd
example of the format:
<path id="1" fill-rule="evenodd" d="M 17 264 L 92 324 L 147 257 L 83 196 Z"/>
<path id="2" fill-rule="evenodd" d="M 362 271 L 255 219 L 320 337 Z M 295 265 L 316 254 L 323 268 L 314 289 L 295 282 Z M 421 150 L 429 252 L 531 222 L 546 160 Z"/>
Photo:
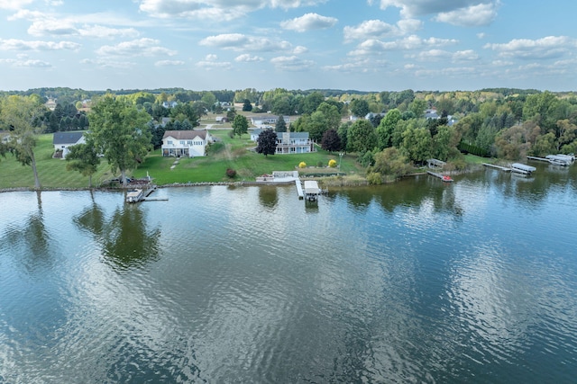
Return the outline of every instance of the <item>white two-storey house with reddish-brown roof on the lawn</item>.
<path id="1" fill-rule="evenodd" d="M 212 142 L 207 130 L 167 130 L 162 137 L 162 156 L 206 156 L 206 147 Z"/>

